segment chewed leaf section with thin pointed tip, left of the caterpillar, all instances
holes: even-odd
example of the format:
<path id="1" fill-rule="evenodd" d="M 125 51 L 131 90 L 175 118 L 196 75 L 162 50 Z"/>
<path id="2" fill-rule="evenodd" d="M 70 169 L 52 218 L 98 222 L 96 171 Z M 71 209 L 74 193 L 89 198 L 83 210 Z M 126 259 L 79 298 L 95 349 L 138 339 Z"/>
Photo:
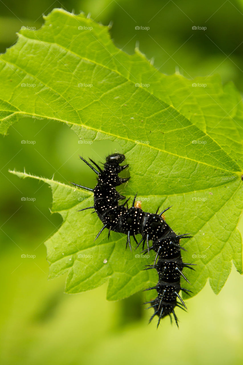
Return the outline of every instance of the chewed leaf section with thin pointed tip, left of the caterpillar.
<path id="1" fill-rule="evenodd" d="M 124 235 L 112 233 L 109 242 L 101 238 L 94 242 L 101 222 L 89 210 L 77 212 L 93 204 L 91 193 L 25 172 L 10 172 L 20 178 L 41 180 L 51 187 L 51 212 L 61 214 L 63 224 L 45 243 L 49 277 L 68 272 L 67 293 L 93 289 L 109 280 L 107 299 L 117 300 L 157 282 L 155 270 L 142 270 L 148 264 L 146 257 L 141 258 L 136 251 L 126 253 Z"/>

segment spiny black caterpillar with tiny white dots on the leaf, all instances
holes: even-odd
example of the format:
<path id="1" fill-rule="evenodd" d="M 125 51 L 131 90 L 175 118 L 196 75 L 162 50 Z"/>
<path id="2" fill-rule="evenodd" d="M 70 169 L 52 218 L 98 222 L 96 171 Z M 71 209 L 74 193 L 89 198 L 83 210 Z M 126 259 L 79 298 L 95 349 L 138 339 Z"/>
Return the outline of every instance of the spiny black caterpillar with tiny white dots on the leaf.
<path id="1" fill-rule="evenodd" d="M 99 219 L 103 222 L 104 226 L 101 228 L 96 238 L 99 237 L 104 228 L 108 228 L 109 233 L 110 231 L 115 231 L 126 234 L 126 247 L 129 245 L 130 250 L 130 237 L 133 236 L 137 243 L 137 247 L 141 242 L 143 242 L 144 247 L 146 242 L 147 249 L 144 251 L 155 251 L 156 255 L 153 265 L 147 265 L 147 268 L 145 269 L 155 268 L 159 275 L 157 285 L 153 288 L 145 289 L 156 289 L 158 293 L 158 296 L 154 300 L 146 303 L 151 304 L 149 308 L 154 308 L 154 314 L 151 316 L 150 321 L 157 315 L 159 317 L 159 325 L 161 318 L 164 318 L 167 315 L 171 318 L 171 314 L 173 314 L 178 326 L 178 319 L 175 315 L 174 308 L 186 308 L 179 292 L 181 290 L 187 294 L 190 292 L 188 289 L 181 287 L 181 276 L 188 281 L 182 273 L 182 270 L 184 267 L 192 269 L 190 265 L 193 265 L 182 261 L 181 249 L 183 248 L 180 246 L 180 239 L 190 238 L 191 236 L 187 234 L 176 235 L 165 222 L 162 218 L 162 214 L 169 208 L 165 209 L 160 214 L 143 212 L 140 208 L 140 204 L 135 206 L 136 196 L 134 197 L 131 208 L 128 208 L 127 206 L 128 200 L 123 204 L 119 204 L 120 200 L 125 197 L 116 191 L 116 187 L 129 180 L 129 178 L 121 178 L 118 175 L 122 170 L 128 167 L 128 165 L 120 166 L 125 160 L 124 155 L 119 153 L 109 155 L 106 158 L 103 170 L 94 161 L 90 160 L 93 165 L 96 166 L 97 170 L 90 165 L 89 162 L 84 160 L 84 158 L 81 156 L 80 158 L 98 174 L 97 185 L 94 189 L 72 183 L 73 185 L 93 191 L 94 193 L 94 206 L 81 210 L 95 208 Z M 142 239 L 138 243 L 135 236 L 139 233 L 142 235 Z M 152 241 L 152 246 L 150 247 L 149 241 Z M 177 299 L 179 299 L 180 302 L 178 302 Z"/>

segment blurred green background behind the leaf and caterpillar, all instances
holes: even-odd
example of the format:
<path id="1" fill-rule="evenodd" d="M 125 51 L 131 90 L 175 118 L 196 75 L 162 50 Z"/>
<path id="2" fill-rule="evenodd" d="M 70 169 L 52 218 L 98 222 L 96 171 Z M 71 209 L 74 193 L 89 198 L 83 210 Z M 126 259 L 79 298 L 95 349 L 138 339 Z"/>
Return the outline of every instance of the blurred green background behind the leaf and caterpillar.
<path id="1" fill-rule="evenodd" d="M 243 1 L 3 0 L 0 51 L 16 41 L 22 26 L 38 29 L 42 14 L 55 7 L 90 13 L 103 24 L 112 21 L 115 44 L 132 53 L 139 42 L 163 73 L 187 78 L 219 73 L 224 83 L 232 80 L 243 92 Z M 136 26 L 150 29 L 138 31 Z M 61 216 L 49 211 L 46 184 L 20 180 L 8 169 L 93 186 L 95 176 L 78 154 L 103 161 L 116 143 L 78 144 L 66 125 L 32 119 L 21 120 L 0 138 L 1 364 L 242 364 L 243 280 L 234 268 L 218 296 L 207 284 L 188 300 L 189 313 L 178 314 L 179 331 L 168 318 L 158 330 L 155 322 L 147 325 L 151 312 L 141 309 L 142 293 L 108 302 L 106 285 L 66 295 L 65 277 L 47 281 L 43 242 L 58 229 Z"/>

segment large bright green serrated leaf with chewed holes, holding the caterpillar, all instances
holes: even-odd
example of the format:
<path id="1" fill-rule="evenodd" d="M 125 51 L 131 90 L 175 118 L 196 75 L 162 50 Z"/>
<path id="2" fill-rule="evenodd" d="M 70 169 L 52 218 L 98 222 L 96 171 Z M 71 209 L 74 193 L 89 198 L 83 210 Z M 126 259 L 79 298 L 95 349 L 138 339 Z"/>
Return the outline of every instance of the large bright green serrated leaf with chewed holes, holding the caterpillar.
<path id="1" fill-rule="evenodd" d="M 243 107 L 232 84 L 222 87 L 217 76 L 192 81 L 163 75 L 138 49 L 133 55 L 117 49 L 108 27 L 61 9 L 40 30 L 20 32 L 16 45 L 1 55 L 0 75 L 2 133 L 30 116 L 65 122 L 78 138 L 119 143 L 130 164 L 126 195 L 138 192 L 144 211 L 173 205 L 166 214 L 171 228 L 194 236 L 183 252 L 184 260 L 198 264 L 187 273 L 194 293 L 208 278 L 218 293 L 232 261 L 242 272 L 237 226 L 243 208 Z M 93 243 L 101 222 L 88 212 L 78 215 L 77 208 L 88 204 L 73 197 L 86 193 L 47 183 L 53 209 L 63 216 L 62 227 L 47 241 L 51 277 L 68 271 L 68 292 L 109 278 L 109 299 L 156 281 L 156 272 L 149 277 L 141 271 L 146 259 L 124 251 L 124 237 L 113 233 L 110 242 Z M 79 252 L 96 257 L 96 267 L 78 258 Z"/>

